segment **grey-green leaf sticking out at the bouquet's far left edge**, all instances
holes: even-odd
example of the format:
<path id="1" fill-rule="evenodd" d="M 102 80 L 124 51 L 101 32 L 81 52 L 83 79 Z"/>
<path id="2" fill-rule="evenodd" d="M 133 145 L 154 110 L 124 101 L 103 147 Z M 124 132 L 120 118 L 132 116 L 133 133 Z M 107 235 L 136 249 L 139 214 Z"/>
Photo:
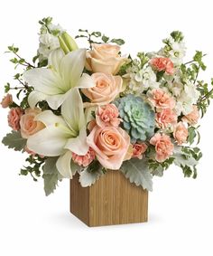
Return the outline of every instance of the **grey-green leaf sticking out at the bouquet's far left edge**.
<path id="1" fill-rule="evenodd" d="M 26 146 L 26 139 L 21 136 L 20 131 L 8 133 L 2 140 L 2 143 L 8 148 L 14 148 L 15 151 L 22 151 Z"/>

